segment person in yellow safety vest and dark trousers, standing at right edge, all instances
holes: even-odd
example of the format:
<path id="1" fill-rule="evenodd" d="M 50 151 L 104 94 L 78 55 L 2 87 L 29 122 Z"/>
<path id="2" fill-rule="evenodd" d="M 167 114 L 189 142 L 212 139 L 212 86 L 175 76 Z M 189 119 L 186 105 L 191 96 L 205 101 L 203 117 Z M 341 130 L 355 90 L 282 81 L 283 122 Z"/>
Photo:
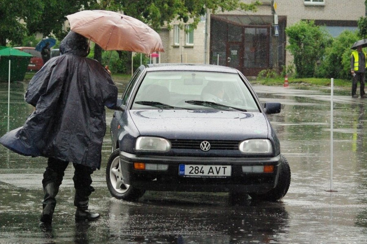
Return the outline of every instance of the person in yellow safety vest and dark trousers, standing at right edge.
<path id="1" fill-rule="evenodd" d="M 362 46 L 357 46 L 357 50 L 354 50 L 350 59 L 350 72 L 352 73 L 352 97 L 358 97 L 357 82 L 360 83 L 360 94 L 361 98 L 366 97 L 364 92 L 364 73 L 366 72 L 366 52 L 362 50 Z"/>

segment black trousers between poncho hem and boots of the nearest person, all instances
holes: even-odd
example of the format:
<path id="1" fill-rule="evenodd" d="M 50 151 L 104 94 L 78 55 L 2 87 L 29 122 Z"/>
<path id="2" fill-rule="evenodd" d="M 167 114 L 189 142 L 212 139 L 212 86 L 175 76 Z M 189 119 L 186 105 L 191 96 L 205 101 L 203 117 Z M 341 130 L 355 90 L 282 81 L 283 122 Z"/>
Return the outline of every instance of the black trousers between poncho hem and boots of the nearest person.
<path id="1" fill-rule="evenodd" d="M 43 173 L 42 185 L 45 187 L 47 184 L 54 182 L 57 186 L 61 185 L 62 179 L 65 175 L 65 169 L 68 167 L 69 162 L 62 161 L 56 158 L 48 158 L 46 171 Z M 92 168 L 81 164 L 73 163 L 74 171 L 74 187 L 78 194 L 83 196 L 89 196 L 94 188 L 91 187 L 93 173 Z"/>

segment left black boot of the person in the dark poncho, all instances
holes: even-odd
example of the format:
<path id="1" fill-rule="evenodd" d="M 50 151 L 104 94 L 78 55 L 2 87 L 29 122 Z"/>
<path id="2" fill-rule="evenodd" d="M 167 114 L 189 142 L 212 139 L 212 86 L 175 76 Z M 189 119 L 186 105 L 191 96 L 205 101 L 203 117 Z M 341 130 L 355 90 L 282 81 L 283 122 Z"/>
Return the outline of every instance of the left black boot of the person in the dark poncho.
<path id="1" fill-rule="evenodd" d="M 56 195 L 59 192 L 59 185 L 51 182 L 48 183 L 44 188 L 44 200 L 42 203 L 42 214 L 40 221 L 44 224 L 52 223 L 52 214 L 54 214 L 55 206 L 56 206 Z"/>

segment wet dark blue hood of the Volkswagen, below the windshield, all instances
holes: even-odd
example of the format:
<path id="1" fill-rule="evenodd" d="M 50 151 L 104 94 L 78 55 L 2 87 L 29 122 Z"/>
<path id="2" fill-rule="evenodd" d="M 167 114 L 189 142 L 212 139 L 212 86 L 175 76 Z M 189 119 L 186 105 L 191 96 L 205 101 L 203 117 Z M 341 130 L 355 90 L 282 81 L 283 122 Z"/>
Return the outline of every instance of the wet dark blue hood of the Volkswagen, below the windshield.
<path id="1" fill-rule="evenodd" d="M 141 135 L 168 139 L 243 140 L 268 138 L 262 113 L 208 110 L 130 110 Z M 219 138 L 220 136 L 220 138 Z"/>

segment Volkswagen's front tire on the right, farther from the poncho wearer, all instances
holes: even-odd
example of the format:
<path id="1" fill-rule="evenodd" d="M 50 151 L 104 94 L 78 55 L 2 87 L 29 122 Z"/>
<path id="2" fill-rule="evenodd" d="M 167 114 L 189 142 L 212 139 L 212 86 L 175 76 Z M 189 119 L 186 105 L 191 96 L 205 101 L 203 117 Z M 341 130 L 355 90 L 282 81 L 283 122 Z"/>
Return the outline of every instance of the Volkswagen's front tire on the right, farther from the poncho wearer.
<path id="1" fill-rule="evenodd" d="M 283 156 L 283 154 L 280 154 L 280 157 L 281 162 L 278 184 L 275 188 L 264 194 L 248 194 L 253 200 L 276 202 L 277 200 L 282 199 L 287 194 L 289 186 L 291 184 L 291 169 L 289 167 L 287 159 Z"/>

